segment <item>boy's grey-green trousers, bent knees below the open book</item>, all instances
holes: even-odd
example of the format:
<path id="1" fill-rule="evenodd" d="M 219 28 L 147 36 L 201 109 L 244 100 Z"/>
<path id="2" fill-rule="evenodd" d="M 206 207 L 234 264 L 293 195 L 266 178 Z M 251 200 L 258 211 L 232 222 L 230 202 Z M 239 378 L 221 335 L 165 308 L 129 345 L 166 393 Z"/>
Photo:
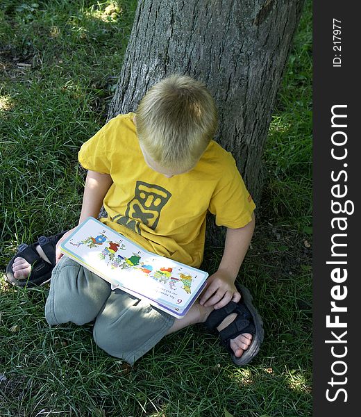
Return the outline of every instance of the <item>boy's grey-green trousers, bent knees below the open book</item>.
<path id="1" fill-rule="evenodd" d="M 133 363 L 167 334 L 175 318 L 124 293 L 63 256 L 53 269 L 45 304 L 49 325 L 94 322 L 95 343 L 108 354 Z"/>

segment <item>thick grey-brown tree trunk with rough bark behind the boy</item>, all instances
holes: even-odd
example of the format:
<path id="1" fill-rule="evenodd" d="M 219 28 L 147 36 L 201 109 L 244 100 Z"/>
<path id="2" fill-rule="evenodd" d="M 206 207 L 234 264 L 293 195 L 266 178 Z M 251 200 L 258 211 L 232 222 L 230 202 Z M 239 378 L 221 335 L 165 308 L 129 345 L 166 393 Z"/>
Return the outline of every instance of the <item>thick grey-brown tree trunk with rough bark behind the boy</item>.
<path id="1" fill-rule="evenodd" d="M 135 111 L 169 74 L 203 81 L 219 110 L 215 139 L 258 204 L 262 152 L 303 1 L 140 0 L 108 119 Z"/>

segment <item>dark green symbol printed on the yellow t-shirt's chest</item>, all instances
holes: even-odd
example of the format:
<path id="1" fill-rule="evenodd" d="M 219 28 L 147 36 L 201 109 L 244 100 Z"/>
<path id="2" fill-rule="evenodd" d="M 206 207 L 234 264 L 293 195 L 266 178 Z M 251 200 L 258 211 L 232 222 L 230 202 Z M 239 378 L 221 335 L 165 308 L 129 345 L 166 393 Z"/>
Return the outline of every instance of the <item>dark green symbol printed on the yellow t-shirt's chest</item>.
<path id="1" fill-rule="evenodd" d="M 171 193 L 160 186 L 137 181 L 134 198 L 128 202 L 125 215 L 116 215 L 113 221 L 123 224 L 141 234 L 140 224 L 156 229 L 162 208 L 167 204 Z"/>

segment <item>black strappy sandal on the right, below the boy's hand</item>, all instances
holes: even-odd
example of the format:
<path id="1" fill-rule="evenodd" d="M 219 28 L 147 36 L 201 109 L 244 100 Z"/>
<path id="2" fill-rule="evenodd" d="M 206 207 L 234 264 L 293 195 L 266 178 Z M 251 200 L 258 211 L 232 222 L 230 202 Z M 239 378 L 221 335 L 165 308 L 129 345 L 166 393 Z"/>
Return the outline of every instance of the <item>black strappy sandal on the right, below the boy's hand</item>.
<path id="1" fill-rule="evenodd" d="M 253 298 L 251 293 L 244 286 L 237 286 L 237 290 L 242 295 L 241 300 L 239 302 L 230 301 L 221 309 L 213 310 L 204 324 L 210 331 L 219 333 L 221 343 L 230 352 L 233 362 L 238 366 L 242 366 L 249 363 L 258 354 L 265 332 L 263 330 L 262 318 L 252 304 Z M 235 320 L 221 332 L 218 332 L 217 327 L 231 313 L 237 313 Z M 251 345 L 247 350 L 244 350 L 242 357 L 238 358 L 230 347 L 230 340 L 245 333 L 252 335 Z"/>

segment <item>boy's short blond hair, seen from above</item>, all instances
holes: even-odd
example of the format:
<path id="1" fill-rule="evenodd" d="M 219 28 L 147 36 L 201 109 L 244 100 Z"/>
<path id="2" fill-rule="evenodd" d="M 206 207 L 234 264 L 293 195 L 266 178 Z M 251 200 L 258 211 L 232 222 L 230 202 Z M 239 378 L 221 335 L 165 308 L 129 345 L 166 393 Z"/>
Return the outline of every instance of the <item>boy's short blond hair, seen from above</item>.
<path id="1" fill-rule="evenodd" d="M 205 85 L 185 75 L 171 75 L 146 92 L 136 111 L 137 136 L 162 167 L 188 170 L 215 135 L 215 101 Z"/>

